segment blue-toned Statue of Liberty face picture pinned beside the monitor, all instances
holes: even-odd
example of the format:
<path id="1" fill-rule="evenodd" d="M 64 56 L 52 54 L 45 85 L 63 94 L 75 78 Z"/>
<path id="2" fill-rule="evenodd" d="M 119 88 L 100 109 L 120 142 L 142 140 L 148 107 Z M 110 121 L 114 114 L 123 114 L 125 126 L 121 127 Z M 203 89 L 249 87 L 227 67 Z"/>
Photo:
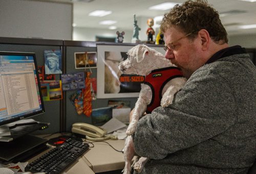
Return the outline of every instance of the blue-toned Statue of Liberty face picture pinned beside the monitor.
<path id="1" fill-rule="evenodd" d="M 45 73 L 61 74 L 61 50 L 45 50 Z"/>

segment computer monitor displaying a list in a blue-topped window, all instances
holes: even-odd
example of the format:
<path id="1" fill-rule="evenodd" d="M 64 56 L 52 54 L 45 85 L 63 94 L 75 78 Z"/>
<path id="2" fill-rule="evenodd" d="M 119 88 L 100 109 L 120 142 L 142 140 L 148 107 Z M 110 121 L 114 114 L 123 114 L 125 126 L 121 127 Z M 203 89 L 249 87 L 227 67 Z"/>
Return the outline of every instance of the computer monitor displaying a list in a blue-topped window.
<path id="1" fill-rule="evenodd" d="M 0 51 L 0 126 L 45 112 L 35 53 Z"/>

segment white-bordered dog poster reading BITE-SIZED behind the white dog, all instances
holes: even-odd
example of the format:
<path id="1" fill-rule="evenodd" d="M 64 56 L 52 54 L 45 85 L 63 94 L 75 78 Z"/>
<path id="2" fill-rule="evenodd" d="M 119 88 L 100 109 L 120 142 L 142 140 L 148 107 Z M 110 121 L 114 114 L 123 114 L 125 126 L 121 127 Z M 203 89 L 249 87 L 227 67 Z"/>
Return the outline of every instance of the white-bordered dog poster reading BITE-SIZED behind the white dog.
<path id="1" fill-rule="evenodd" d="M 144 76 L 122 74 L 118 68 L 120 62 L 127 59 L 131 45 L 97 45 L 97 98 L 138 97 Z M 164 52 L 162 46 L 154 49 Z"/>

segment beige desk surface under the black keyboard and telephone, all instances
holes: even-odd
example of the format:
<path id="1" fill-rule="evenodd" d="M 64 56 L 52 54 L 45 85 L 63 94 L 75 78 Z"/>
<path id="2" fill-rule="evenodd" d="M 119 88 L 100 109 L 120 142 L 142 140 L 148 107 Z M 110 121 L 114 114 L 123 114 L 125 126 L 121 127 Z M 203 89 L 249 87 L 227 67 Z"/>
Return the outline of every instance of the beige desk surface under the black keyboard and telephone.
<path id="1" fill-rule="evenodd" d="M 63 134 L 56 133 L 46 139 L 55 138 Z M 40 135 L 39 137 L 45 137 L 47 135 Z M 124 147 L 125 140 L 105 140 L 110 143 L 115 149 L 122 150 Z M 67 174 L 91 174 L 104 171 L 112 171 L 123 169 L 124 167 L 124 157 L 123 153 L 115 151 L 112 147 L 104 142 L 93 142 L 94 147 L 89 148 L 83 156 L 81 156 L 77 161 L 75 161 L 71 166 L 69 166 L 65 172 Z M 90 145 L 90 144 L 89 144 Z M 92 146 L 92 145 L 90 145 Z M 41 152 L 34 158 L 28 160 L 32 162 L 35 159 L 42 156 L 42 154 L 50 151 L 50 149 Z"/>

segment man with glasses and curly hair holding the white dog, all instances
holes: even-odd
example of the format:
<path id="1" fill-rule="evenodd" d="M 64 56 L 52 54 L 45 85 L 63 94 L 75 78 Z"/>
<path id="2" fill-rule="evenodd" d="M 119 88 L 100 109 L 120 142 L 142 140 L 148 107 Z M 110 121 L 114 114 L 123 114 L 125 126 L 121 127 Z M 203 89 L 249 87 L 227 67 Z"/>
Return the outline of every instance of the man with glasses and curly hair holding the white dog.
<path id="1" fill-rule="evenodd" d="M 161 23 L 165 57 L 188 79 L 169 107 L 139 120 L 142 173 L 247 173 L 256 158 L 256 68 L 228 46 L 218 12 L 187 1 Z"/>

